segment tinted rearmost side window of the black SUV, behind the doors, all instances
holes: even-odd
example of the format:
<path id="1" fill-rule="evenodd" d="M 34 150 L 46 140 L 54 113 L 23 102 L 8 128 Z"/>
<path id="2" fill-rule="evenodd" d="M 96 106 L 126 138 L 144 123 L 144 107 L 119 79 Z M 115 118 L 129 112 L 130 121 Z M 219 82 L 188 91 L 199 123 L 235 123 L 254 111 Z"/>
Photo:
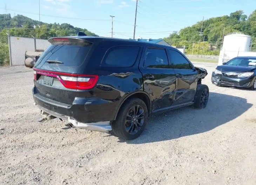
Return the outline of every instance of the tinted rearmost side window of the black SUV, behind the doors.
<path id="1" fill-rule="evenodd" d="M 103 66 L 129 67 L 137 59 L 140 47 L 118 46 L 111 47 L 103 58 Z"/>

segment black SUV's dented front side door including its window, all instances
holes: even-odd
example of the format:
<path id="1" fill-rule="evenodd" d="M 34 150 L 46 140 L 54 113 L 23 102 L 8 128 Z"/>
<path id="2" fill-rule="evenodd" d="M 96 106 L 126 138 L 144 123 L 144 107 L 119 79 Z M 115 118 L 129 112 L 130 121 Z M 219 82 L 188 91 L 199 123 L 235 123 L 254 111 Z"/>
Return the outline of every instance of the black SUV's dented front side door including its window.
<path id="1" fill-rule="evenodd" d="M 182 53 L 173 49 L 169 49 L 168 53 L 171 59 L 170 68 L 173 68 L 176 74 L 175 98 L 173 105 L 193 101 L 198 80 L 194 66 L 190 64 Z"/>

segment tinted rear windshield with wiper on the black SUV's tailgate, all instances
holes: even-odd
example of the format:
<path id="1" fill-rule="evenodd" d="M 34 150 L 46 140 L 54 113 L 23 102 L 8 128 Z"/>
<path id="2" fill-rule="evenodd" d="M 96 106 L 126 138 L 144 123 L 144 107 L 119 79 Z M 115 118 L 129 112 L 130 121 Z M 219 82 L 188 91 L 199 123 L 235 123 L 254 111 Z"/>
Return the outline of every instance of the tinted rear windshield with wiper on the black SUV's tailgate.
<path id="1" fill-rule="evenodd" d="M 50 45 L 41 55 L 38 63 L 52 66 L 76 67 L 80 66 L 86 58 L 91 45 Z M 48 62 L 56 61 L 56 62 Z M 57 63 L 58 62 L 58 63 Z M 62 64 L 62 63 L 63 64 Z"/>

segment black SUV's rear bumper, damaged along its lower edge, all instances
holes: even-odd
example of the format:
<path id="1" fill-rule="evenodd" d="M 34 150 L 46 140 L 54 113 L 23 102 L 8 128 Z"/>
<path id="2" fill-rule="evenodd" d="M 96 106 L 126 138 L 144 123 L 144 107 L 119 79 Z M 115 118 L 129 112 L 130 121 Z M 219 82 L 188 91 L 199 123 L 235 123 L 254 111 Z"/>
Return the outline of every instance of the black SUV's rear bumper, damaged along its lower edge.
<path id="1" fill-rule="evenodd" d="M 99 98 L 76 97 L 72 105 L 56 102 L 38 94 L 35 88 L 32 90 L 34 102 L 46 113 L 78 123 L 98 123 L 112 121 L 115 117 L 116 102 L 109 102 Z"/>

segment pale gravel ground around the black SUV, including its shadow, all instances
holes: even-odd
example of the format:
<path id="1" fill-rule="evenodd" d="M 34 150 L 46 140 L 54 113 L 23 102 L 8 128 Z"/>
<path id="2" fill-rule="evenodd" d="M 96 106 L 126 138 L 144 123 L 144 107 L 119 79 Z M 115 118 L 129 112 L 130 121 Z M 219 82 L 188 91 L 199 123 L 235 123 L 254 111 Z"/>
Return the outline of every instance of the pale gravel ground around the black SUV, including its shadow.
<path id="1" fill-rule="evenodd" d="M 152 117 L 124 141 L 39 123 L 32 69 L 0 68 L 0 184 L 256 184 L 256 91 L 217 87 L 207 108 Z"/>

